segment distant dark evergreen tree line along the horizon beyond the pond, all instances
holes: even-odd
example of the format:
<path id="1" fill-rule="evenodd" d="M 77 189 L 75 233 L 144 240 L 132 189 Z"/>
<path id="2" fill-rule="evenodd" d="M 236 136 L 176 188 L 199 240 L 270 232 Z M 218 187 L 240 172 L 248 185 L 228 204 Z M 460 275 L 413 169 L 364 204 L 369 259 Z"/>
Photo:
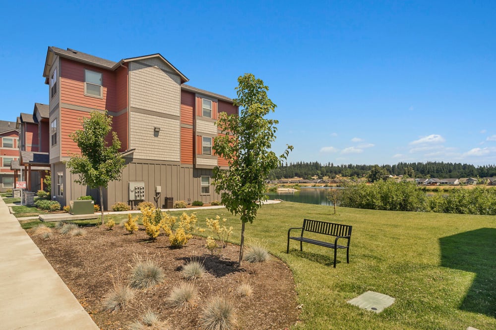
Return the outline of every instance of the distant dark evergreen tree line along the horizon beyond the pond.
<path id="1" fill-rule="evenodd" d="M 286 163 L 272 170 L 269 174 L 270 180 L 300 177 L 309 179 L 317 176 L 329 177 L 358 177 L 361 178 L 372 170 L 374 165 L 354 165 L 333 163 L 321 164 L 319 162 L 296 162 Z M 486 178 L 496 176 L 496 165 L 474 166 L 471 164 L 427 162 L 427 163 L 403 163 L 396 165 L 379 165 L 386 175 L 408 175 L 410 178 Z"/>

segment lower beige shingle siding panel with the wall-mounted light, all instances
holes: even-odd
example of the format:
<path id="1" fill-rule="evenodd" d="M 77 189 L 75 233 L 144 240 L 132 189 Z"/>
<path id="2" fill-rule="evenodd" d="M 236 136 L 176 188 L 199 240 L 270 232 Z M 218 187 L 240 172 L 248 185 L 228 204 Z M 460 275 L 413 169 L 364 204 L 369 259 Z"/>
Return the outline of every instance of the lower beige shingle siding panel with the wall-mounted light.
<path id="1" fill-rule="evenodd" d="M 180 161 L 180 120 L 131 112 L 130 148 L 134 158 Z M 160 133 L 154 136 L 154 128 Z"/>

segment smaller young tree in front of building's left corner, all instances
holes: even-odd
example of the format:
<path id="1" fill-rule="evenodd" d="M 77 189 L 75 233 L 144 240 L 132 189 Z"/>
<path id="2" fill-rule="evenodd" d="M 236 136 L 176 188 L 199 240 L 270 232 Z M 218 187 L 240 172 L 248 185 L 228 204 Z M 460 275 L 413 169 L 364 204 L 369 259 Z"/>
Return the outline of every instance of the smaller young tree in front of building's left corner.
<path id="1" fill-rule="evenodd" d="M 121 179 L 125 166 L 119 152 L 121 141 L 116 132 L 112 132 L 112 144 L 105 141 L 112 130 L 112 117 L 105 113 L 92 111 L 89 118 L 80 119 L 80 122 L 83 129 L 69 137 L 77 143 L 81 154 L 72 154 L 67 167 L 70 173 L 79 175 L 74 182 L 99 189 L 103 225 L 103 189 L 110 181 Z"/>

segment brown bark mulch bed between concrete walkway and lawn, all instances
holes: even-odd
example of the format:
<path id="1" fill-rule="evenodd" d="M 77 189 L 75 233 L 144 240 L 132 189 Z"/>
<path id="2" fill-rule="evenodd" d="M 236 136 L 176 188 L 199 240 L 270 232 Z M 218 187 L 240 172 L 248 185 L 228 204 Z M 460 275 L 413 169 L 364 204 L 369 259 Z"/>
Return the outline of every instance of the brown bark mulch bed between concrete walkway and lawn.
<path id="1" fill-rule="evenodd" d="M 100 227 L 86 230 L 86 236 L 61 235 L 54 230 L 49 239 L 32 235 L 33 230 L 28 233 L 101 329 L 127 329 L 147 309 L 157 312 L 168 329 L 199 329 L 202 307 L 216 295 L 228 297 L 234 304 L 240 329 L 287 329 L 298 321 L 291 271 L 275 257 L 264 263 L 244 262 L 238 268 L 238 245 L 228 244 L 217 257 L 210 255 L 204 247 L 205 239 L 200 237 L 178 249 L 170 247 L 166 236 L 149 241 L 142 230 L 132 235 L 119 226 L 113 231 Z M 113 282 L 127 281 L 136 255 L 158 263 L 166 280 L 155 287 L 137 290 L 125 310 L 105 311 L 104 295 L 112 289 Z M 183 311 L 168 306 L 166 299 L 172 287 L 183 282 L 181 267 L 191 258 L 203 262 L 207 274 L 193 282 L 199 295 L 196 305 Z M 249 297 L 236 293 L 243 282 L 253 287 Z"/>

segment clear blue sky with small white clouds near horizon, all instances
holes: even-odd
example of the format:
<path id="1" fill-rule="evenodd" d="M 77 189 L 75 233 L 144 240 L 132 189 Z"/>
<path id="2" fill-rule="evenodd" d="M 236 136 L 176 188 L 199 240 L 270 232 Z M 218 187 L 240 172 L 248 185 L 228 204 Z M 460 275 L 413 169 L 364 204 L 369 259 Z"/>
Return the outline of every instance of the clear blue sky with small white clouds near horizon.
<path id="1" fill-rule="evenodd" d="M 48 46 L 159 52 L 218 94 L 261 78 L 290 161 L 496 163 L 496 1 L 238 2 L 3 2 L 0 119 L 48 103 Z"/>

